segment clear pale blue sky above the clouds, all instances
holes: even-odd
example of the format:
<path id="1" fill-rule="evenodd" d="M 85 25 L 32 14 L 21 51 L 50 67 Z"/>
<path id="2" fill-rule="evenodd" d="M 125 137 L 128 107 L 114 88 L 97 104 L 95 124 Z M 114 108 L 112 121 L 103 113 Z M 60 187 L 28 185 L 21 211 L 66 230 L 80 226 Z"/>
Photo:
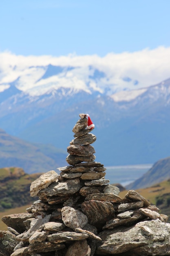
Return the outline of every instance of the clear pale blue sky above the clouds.
<path id="1" fill-rule="evenodd" d="M 105 56 L 170 47 L 170 0 L 5 0 L 0 52 Z"/>

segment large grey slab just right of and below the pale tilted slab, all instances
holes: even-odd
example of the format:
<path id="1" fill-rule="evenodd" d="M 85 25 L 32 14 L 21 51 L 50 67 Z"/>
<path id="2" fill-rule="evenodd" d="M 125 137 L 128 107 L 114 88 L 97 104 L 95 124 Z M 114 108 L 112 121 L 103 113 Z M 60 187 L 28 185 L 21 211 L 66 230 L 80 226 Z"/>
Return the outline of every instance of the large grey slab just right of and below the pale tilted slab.
<path id="1" fill-rule="evenodd" d="M 39 196 L 67 195 L 74 194 L 82 187 L 79 178 L 69 179 L 65 182 L 53 182 L 48 188 L 42 189 Z"/>

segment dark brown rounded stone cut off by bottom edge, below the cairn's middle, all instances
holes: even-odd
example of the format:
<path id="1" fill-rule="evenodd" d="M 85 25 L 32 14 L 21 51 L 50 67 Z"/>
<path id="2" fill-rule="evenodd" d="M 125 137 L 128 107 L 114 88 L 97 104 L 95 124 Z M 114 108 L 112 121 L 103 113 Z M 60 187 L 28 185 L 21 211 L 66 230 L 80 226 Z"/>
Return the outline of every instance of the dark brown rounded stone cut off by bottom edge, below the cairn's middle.
<path id="1" fill-rule="evenodd" d="M 75 243 L 73 243 L 73 245 L 68 247 L 68 250 L 65 256 L 75 256 L 75 255 L 79 255 L 79 256 L 93 255 L 91 254 L 91 248 L 88 245 L 86 240 L 76 241 Z"/>

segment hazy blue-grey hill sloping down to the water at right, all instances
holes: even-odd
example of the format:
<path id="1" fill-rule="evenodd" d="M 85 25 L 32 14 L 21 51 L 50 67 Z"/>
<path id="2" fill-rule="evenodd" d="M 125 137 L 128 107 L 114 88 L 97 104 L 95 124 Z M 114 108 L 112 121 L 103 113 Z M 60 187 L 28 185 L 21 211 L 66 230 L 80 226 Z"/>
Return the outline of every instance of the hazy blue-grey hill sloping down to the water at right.
<path id="1" fill-rule="evenodd" d="M 160 159 L 142 177 L 135 180 L 126 189 L 141 189 L 170 178 L 170 157 Z"/>

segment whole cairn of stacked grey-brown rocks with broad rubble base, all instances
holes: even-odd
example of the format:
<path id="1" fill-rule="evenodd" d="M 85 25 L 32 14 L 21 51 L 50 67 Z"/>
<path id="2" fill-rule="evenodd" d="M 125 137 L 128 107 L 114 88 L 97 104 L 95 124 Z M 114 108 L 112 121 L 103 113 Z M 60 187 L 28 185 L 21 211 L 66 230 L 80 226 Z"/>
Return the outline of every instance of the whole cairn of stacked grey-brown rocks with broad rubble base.
<path id="1" fill-rule="evenodd" d="M 168 217 L 134 190 L 119 197 L 104 165 L 94 162 L 86 114 L 79 116 L 69 166 L 31 183 L 39 200 L 28 213 L 2 218 L 8 231 L 0 231 L 0 256 L 170 255 Z"/>

